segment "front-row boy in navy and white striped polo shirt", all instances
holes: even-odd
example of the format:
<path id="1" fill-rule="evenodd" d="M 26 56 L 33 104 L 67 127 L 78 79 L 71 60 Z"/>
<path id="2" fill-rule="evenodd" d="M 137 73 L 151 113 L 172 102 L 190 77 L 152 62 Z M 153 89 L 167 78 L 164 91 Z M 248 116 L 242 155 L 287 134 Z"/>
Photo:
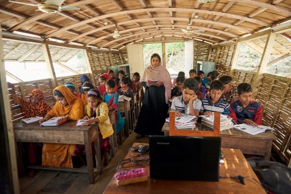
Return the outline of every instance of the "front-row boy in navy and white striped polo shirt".
<path id="1" fill-rule="evenodd" d="M 212 81 L 210 84 L 210 97 L 202 100 L 201 114 L 213 115 L 214 112 L 229 114 L 229 105 L 220 99 L 223 94 L 223 82 Z"/>

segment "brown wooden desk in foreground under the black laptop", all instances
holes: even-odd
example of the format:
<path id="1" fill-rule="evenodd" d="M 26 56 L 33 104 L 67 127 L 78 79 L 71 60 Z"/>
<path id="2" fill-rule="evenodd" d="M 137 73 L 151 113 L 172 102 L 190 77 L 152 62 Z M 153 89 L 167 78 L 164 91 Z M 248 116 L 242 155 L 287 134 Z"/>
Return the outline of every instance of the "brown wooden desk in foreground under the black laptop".
<path id="1" fill-rule="evenodd" d="M 138 144 L 140 143 L 134 145 Z M 223 148 L 222 151 L 226 158 L 225 162 L 220 164 L 220 176 L 241 175 L 245 177 L 245 185 L 232 178 L 222 178 L 219 182 L 151 179 L 149 178 L 149 163 L 146 163 L 142 167 L 147 169 L 147 182 L 117 186 L 113 177 L 103 194 L 266 194 L 240 150 Z M 130 153 L 134 154 L 132 151 Z M 129 154 L 126 158 L 130 158 Z"/>

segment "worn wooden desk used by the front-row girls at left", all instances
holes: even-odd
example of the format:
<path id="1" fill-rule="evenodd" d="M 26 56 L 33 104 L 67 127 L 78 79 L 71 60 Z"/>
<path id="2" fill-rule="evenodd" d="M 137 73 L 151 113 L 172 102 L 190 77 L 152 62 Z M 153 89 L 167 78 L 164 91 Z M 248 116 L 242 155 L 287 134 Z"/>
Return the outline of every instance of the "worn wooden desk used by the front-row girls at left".
<path id="1" fill-rule="evenodd" d="M 76 126 L 77 121 L 67 121 L 61 126 L 41 127 L 38 122 L 26 124 L 24 122 L 16 123 L 14 136 L 16 142 L 39 142 L 39 143 L 56 143 L 56 144 L 80 144 L 85 145 L 86 150 L 86 169 L 33 166 L 32 168 L 41 168 L 47 170 L 73 171 L 89 174 L 90 184 L 94 184 L 94 167 L 91 143 L 94 142 L 96 154 L 97 174 L 102 173 L 101 153 L 98 137 L 97 124 L 90 126 Z"/>

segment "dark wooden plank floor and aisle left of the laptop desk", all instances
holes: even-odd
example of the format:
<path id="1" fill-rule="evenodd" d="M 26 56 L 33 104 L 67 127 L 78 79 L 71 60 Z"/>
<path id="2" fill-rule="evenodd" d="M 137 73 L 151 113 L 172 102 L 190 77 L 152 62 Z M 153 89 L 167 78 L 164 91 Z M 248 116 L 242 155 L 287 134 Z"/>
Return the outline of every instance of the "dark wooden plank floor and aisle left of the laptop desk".
<path id="1" fill-rule="evenodd" d="M 147 137 L 135 139 L 135 135 L 136 133 L 131 133 L 123 145 L 118 147 L 115 157 L 95 184 L 89 184 L 88 175 L 84 173 L 40 170 L 32 179 L 19 179 L 21 194 L 102 194 L 129 147 L 134 142 L 148 143 Z"/>

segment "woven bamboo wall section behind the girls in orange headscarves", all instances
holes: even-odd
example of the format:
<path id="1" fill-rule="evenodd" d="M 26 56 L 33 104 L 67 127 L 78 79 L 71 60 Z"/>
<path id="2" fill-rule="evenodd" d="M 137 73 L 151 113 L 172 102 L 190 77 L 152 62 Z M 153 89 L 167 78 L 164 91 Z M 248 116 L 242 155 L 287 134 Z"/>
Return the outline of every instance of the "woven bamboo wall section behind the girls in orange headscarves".
<path id="1" fill-rule="evenodd" d="M 29 100 L 32 89 L 41 89 L 44 94 L 44 100 L 48 103 L 48 105 L 52 108 L 55 104 L 55 99 L 52 95 L 53 88 L 51 86 L 50 79 L 20 82 L 20 83 L 15 83 L 14 86 L 15 86 L 15 92 L 18 95 L 18 97 L 21 97 L 25 100 Z M 21 114 L 21 109 L 19 105 L 13 102 L 11 95 L 9 95 L 9 99 L 10 99 L 12 122 L 16 123 L 23 118 Z"/>

